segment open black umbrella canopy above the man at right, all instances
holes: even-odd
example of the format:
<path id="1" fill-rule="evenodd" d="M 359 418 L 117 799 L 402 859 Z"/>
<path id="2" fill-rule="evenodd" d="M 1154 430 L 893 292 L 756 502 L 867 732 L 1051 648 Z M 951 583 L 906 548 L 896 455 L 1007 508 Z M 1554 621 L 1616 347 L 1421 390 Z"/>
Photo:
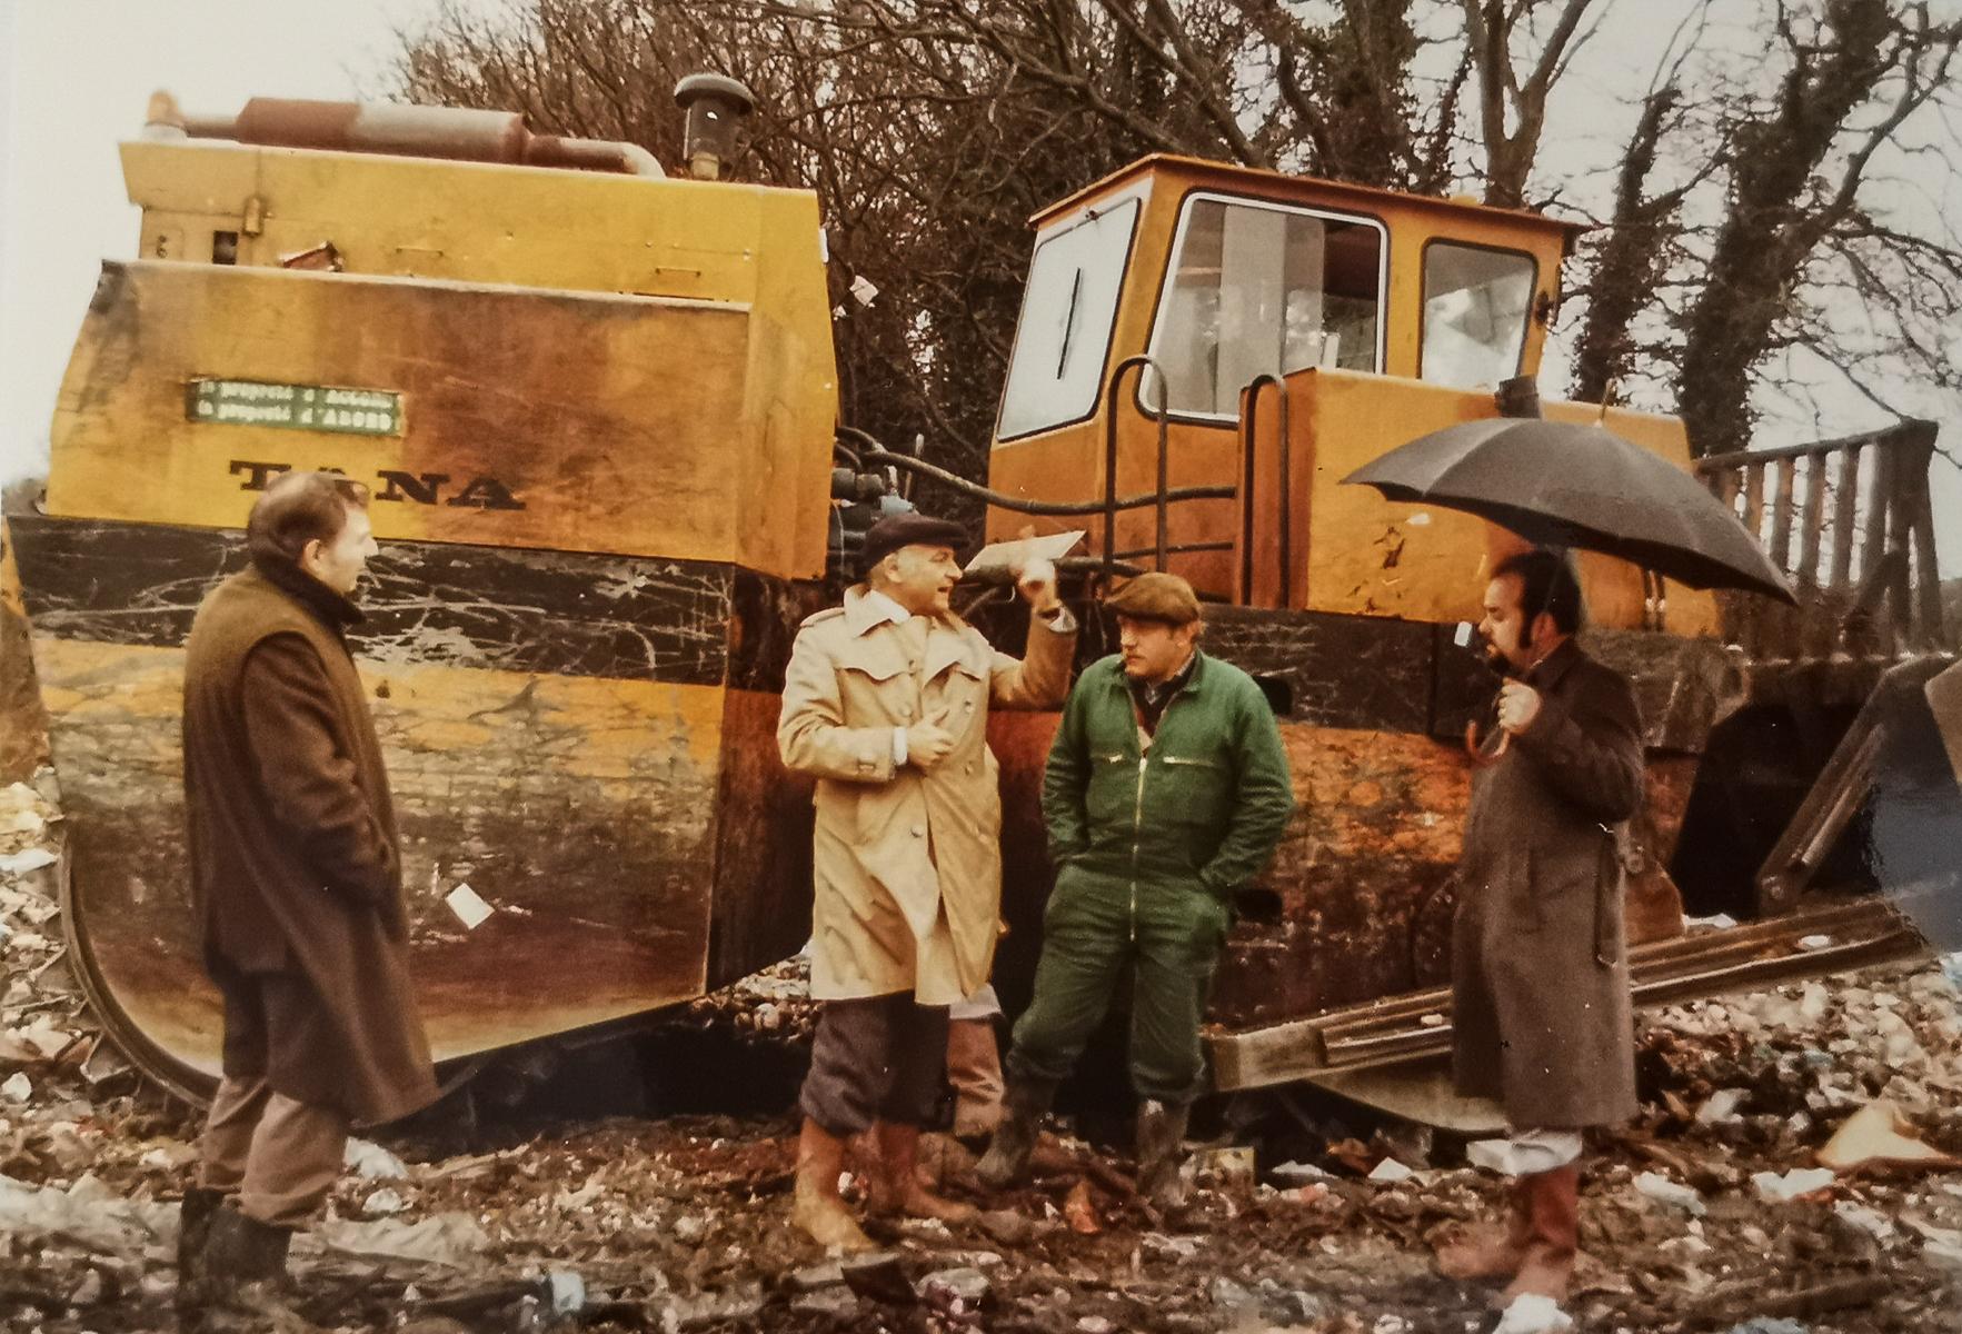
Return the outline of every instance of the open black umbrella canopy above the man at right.
<path id="1" fill-rule="evenodd" d="M 1599 426 L 1460 422 L 1342 481 L 1375 487 L 1387 500 L 1464 510 L 1540 545 L 1603 551 L 1691 589 L 1748 589 L 1795 602 L 1783 573 L 1723 500 Z"/>

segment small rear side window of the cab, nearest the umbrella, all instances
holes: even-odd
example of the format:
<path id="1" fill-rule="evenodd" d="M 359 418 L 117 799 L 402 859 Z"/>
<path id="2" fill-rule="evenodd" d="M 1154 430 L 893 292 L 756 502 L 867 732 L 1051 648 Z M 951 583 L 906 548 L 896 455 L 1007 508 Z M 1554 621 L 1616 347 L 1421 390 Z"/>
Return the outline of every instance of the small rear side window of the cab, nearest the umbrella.
<path id="1" fill-rule="evenodd" d="M 1450 241 L 1426 245 L 1419 375 L 1454 388 L 1491 388 L 1519 375 L 1536 279 L 1532 255 Z"/>

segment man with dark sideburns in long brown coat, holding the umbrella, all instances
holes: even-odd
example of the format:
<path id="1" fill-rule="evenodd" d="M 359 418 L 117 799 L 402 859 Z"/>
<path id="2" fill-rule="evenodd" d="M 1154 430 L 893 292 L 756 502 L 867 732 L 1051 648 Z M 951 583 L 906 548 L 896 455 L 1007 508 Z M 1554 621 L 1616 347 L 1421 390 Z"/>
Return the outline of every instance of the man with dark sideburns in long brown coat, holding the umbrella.
<path id="1" fill-rule="evenodd" d="M 1440 1248 L 1499 1305 L 1564 1301 L 1579 1246 L 1581 1128 L 1634 1114 L 1634 1020 L 1617 826 L 1642 804 L 1634 689 L 1574 643 L 1581 590 L 1550 551 L 1501 563 L 1479 634 L 1513 679 L 1501 755 L 1473 779 L 1452 932 L 1458 1091 L 1497 1099 L 1511 1216 Z"/>

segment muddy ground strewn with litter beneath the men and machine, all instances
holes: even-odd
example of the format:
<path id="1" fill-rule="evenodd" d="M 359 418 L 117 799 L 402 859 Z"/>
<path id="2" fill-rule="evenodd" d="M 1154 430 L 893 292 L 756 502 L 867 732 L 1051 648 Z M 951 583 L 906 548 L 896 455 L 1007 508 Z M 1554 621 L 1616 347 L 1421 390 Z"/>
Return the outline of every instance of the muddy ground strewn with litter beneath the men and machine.
<path id="1" fill-rule="evenodd" d="M 0 800 L 0 1328 L 171 1330 L 196 1118 L 102 1044 L 67 975 L 49 867 L 29 865 L 55 820 L 29 789 Z M 967 1152 L 934 1142 L 946 1189 L 987 1210 L 977 1226 L 875 1222 L 885 1254 L 838 1265 L 789 1226 L 806 1034 L 783 967 L 647 1034 L 487 1069 L 359 1146 L 296 1246 L 306 1312 L 422 1334 L 1497 1320 L 1487 1289 L 1430 1261 L 1440 1232 L 1503 1193 L 1462 1142 L 1299 1091 L 1214 1103 L 1195 1124 L 1193 1203 L 1158 1218 L 1128 1189 L 1120 1099 L 1097 1097 L 1109 1065 L 1026 1189 L 977 1189 Z M 1962 1330 L 1962 1165 L 1785 1175 L 1876 1101 L 1893 1110 L 1868 1120 L 1901 1136 L 1889 1154 L 1962 1154 L 1950 971 L 1652 1012 L 1640 1071 L 1638 1124 L 1593 1146 L 1583 1181 L 1577 1328 Z M 677 1110 L 708 1106 L 742 1114 Z"/>

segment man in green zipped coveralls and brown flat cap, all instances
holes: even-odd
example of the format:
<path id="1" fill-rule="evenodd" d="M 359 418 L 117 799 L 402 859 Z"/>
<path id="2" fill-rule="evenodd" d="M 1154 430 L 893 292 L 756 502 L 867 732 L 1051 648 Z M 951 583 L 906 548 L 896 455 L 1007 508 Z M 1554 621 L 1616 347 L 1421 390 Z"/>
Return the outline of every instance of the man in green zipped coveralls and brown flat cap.
<path id="1" fill-rule="evenodd" d="M 1199 651 L 1191 585 L 1140 575 L 1109 606 L 1122 651 L 1069 693 L 1042 783 L 1056 891 L 1036 995 L 1014 1026 L 1005 1118 L 979 1173 L 1003 1187 L 1026 1169 L 1056 1087 L 1130 963 L 1138 1189 L 1175 1206 L 1179 1142 L 1205 1085 L 1199 1022 L 1232 895 L 1267 865 L 1295 798 L 1267 696 Z"/>

